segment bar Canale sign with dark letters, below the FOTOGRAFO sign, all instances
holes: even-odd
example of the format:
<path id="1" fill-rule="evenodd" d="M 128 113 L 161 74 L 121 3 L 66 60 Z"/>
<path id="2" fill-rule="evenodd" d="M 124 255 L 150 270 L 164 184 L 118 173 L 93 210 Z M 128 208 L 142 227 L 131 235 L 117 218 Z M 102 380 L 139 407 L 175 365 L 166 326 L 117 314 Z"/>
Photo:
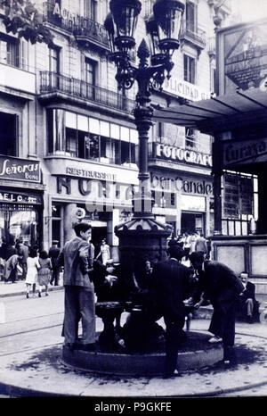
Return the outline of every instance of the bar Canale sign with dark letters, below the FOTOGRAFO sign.
<path id="1" fill-rule="evenodd" d="M 151 174 L 151 187 L 161 188 L 165 190 L 177 191 L 182 194 L 197 194 L 197 195 L 210 195 L 213 193 L 213 186 L 211 183 L 203 180 L 191 180 L 176 178 L 166 178 L 163 176 Z"/>

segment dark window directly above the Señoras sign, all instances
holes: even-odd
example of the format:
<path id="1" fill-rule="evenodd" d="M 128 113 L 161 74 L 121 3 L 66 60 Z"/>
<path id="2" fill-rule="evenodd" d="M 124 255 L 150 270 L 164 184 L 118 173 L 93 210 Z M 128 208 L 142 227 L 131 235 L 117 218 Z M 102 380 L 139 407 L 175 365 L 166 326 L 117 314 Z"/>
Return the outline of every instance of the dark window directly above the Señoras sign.
<path id="1" fill-rule="evenodd" d="M 18 116 L 0 112 L 0 154 L 17 156 Z"/>

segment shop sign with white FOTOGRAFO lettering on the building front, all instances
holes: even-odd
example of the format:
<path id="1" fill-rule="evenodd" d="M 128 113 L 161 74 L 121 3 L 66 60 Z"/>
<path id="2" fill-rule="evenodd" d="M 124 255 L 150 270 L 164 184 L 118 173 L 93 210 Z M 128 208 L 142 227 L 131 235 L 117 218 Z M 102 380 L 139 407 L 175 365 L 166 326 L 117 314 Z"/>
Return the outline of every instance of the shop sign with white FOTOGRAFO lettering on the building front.
<path id="1" fill-rule="evenodd" d="M 157 144 L 156 152 L 157 157 L 212 167 L 212 156 L 210 154 L 201 154 L 194 150 L 166 146 L 159 143 Z"/>

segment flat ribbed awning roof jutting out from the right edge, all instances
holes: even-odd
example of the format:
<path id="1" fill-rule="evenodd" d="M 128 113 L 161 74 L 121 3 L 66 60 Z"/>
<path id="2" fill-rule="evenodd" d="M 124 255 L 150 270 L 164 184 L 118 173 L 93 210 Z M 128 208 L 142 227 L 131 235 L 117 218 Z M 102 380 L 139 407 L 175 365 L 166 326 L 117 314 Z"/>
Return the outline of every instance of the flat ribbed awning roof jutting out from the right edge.
<path id="1" fill-rule="evenodd" d="M 196 128 L 207 134 L 266 122 L 267 92 L 261 88 L 238 89 L 231 94 L 154 111 L 155 121 Z"/>

